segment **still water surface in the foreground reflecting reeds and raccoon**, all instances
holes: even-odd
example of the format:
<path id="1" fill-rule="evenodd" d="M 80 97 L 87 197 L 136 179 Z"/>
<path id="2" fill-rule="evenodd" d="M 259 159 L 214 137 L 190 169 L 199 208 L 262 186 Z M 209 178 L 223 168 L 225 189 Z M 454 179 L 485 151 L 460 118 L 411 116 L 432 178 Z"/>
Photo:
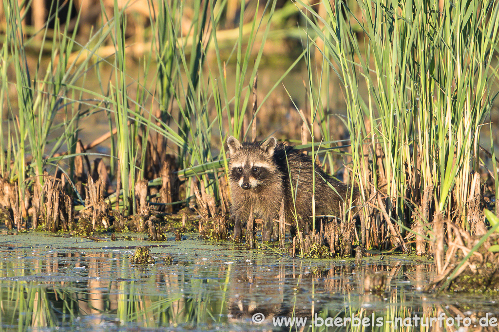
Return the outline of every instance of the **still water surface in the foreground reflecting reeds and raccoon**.
<path id="1" fill-rule="evenodd" d="M 173 265 L 167 265 L 162 260 L 168 249 L 153 247 L 157 264 L 142 267 L 130 263 L 133 249 L 125 247 L 66 247 L 56 253 L 2 246 L 0 330 L 289 331 L 274 322 L 294 317 L 307 318 L 307 324 L 292 331 L 312 331 L 316 317 L 323 325 L 314 331 L 391 331 L 357 327 L 351 318 L 499 317 L 494 300 L 485 296 L 423 292 L 432 265 L 405 256 L 368 258 L 356 265 L 353 260 L 309 261 L 212 245 L 206 255 L 178 249 L 171 253 Z M 365 291 L 379 281 L 380 291 Z M 259 324 L 252 321 L 255 314 L 263 315 Z M 325 326 L 345 318 L 350 318 L 345 326 Z M 418 326 L 404 331 L 455 329 Z"/>

